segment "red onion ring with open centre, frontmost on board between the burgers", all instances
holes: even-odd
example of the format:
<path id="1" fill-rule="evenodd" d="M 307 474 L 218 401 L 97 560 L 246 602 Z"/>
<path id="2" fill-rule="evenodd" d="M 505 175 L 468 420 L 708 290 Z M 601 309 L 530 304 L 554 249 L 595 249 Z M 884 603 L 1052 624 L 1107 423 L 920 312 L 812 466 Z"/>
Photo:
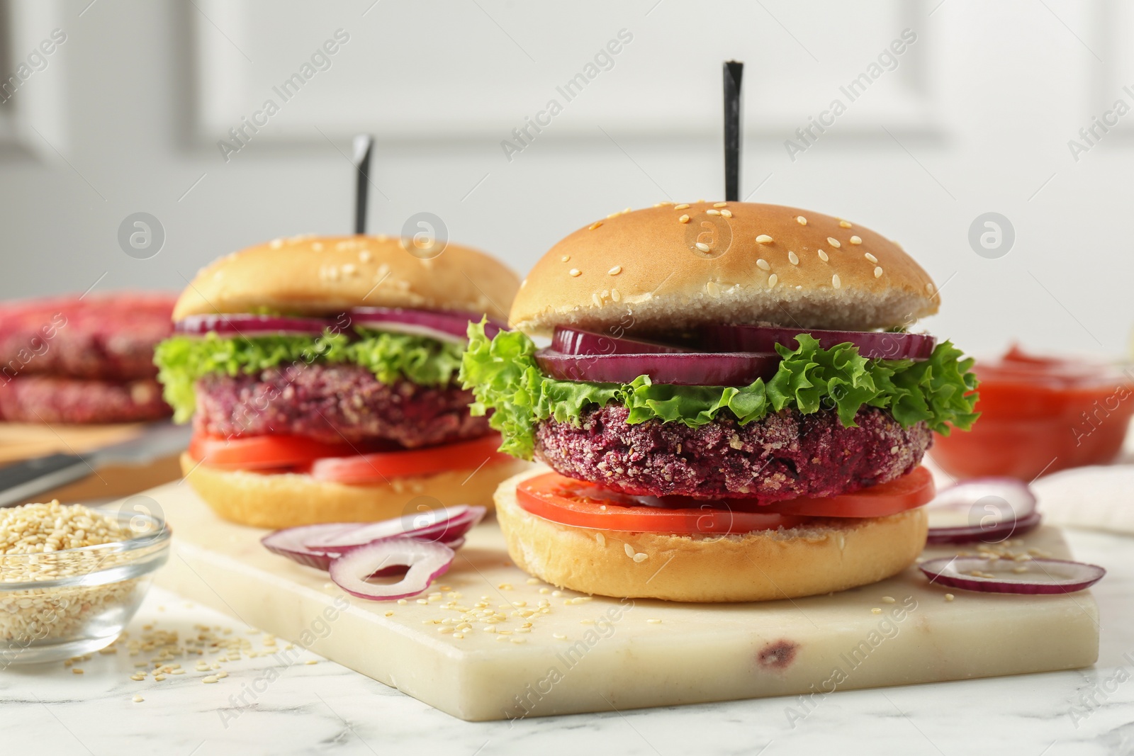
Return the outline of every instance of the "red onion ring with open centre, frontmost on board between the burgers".
<path id="1" fill-rule="evenodd" d="M 456 553 L 440 543 L 398 536 L 352 549 L 331 562 L 330 576 L 337 586 L 359 598 L 392 601 L 422 593 L 445 575 Z M 382 585 L 367 578 L 391 567 L 409 569 L 399 581 Z"/>

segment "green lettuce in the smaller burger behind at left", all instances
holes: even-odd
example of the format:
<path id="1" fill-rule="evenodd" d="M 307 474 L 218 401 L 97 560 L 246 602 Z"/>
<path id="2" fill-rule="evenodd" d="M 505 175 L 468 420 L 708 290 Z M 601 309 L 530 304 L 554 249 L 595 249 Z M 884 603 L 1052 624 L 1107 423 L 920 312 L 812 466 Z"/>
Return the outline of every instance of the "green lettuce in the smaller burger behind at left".
<path id="1" fill-rule="evenodd" d="M 357 332 L 361 338 L 354 341 L 331 331 L 320 337 L 175 335 L 158 345 L 154 363 L 178 423 L 188 421 L 196 407 L 193 384 L 210 373 L 254 375 L 280 365 L 352 363 L 369 368 L 382 383 L 405 377 L 420 385 L 445 385 L 460 368 L 464 345 L 369 329 Z"/>

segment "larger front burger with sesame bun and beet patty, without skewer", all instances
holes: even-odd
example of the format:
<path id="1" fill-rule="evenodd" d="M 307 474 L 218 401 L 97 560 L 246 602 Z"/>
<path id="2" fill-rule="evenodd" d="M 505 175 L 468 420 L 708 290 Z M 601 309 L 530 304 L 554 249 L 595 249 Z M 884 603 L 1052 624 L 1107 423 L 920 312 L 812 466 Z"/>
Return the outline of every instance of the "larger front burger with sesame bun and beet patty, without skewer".
<path id="1" fill-rule="evenodd" d="M 975 419 L 972 360 L 907 332 L 929 275 L 848 221 L 669 203 L 592 223 L 469 329 L 513 560 L 609 596 L 762 601 L 865 585 L 925 543 L 932 432 Z M 551 337 L 538 349 L 530 335 Z"/>

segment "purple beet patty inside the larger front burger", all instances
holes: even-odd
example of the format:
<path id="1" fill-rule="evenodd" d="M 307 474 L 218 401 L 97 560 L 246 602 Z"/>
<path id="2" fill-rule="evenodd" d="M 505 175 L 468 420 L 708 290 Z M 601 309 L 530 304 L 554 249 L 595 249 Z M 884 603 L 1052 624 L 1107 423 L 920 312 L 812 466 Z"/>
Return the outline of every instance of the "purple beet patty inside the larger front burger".
<path id="1" fill-rule="evenodd" d="M 772 502 L 892 481 L 916 467 L 932 443 L 924 423 L 904 430 L 874 408 L 858 410 L 858 427 L 843 427 L 829 410 L 785 409 L 747 425 L 722 414 L 695 428 L 629 425 L 627 415 L 608 405 L 585 413 L 578 426 L 543 421 L 535 455 L 561 475 L 629 494 Z"/>

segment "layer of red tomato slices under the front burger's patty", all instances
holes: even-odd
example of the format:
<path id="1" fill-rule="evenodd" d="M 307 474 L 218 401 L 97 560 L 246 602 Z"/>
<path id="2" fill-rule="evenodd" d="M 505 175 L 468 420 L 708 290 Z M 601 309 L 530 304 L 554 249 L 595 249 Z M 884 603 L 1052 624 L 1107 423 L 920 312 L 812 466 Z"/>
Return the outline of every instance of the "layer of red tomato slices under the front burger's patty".
<path id="1" fill-rule="evenodd" d="M 854 493 L 765 506 L 743 499 L 629 496 L 558 473 L 536 475 L 516 486 L 521 508 L 552 523 L 596 530 L 674 535 L 795 527 L 813 517 L 885 517 L 926 504 L 933 495 L 933 478 L 923 467 L 897 481 Z"/>

